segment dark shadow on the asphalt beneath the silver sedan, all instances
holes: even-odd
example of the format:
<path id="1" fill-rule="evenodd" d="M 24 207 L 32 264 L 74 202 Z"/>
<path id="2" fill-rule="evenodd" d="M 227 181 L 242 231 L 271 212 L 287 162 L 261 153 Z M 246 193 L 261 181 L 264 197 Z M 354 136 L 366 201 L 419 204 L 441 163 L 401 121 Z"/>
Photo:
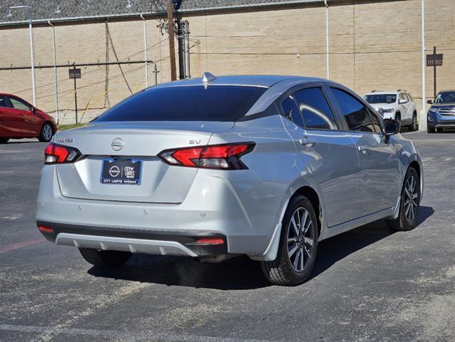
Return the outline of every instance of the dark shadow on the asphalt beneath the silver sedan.
<path id="1" fill-rule="evenodd" d="M 432 207 L 420 207 L 417 224 L 422 224 L 433 213 Z M 384 221 L 378 221 L 320 242 L 318 259 L 310 279 L 348 255 L 392 234 L 394 232 L 387 228 Z M 135 254 L 125 266 L 115 269 L 93 266 L 88 274 L 110 279 L 224 291 L 271 286 L 263 277 L 259 263 L 244 256 L 214 264 L 193 258 Z"/>

